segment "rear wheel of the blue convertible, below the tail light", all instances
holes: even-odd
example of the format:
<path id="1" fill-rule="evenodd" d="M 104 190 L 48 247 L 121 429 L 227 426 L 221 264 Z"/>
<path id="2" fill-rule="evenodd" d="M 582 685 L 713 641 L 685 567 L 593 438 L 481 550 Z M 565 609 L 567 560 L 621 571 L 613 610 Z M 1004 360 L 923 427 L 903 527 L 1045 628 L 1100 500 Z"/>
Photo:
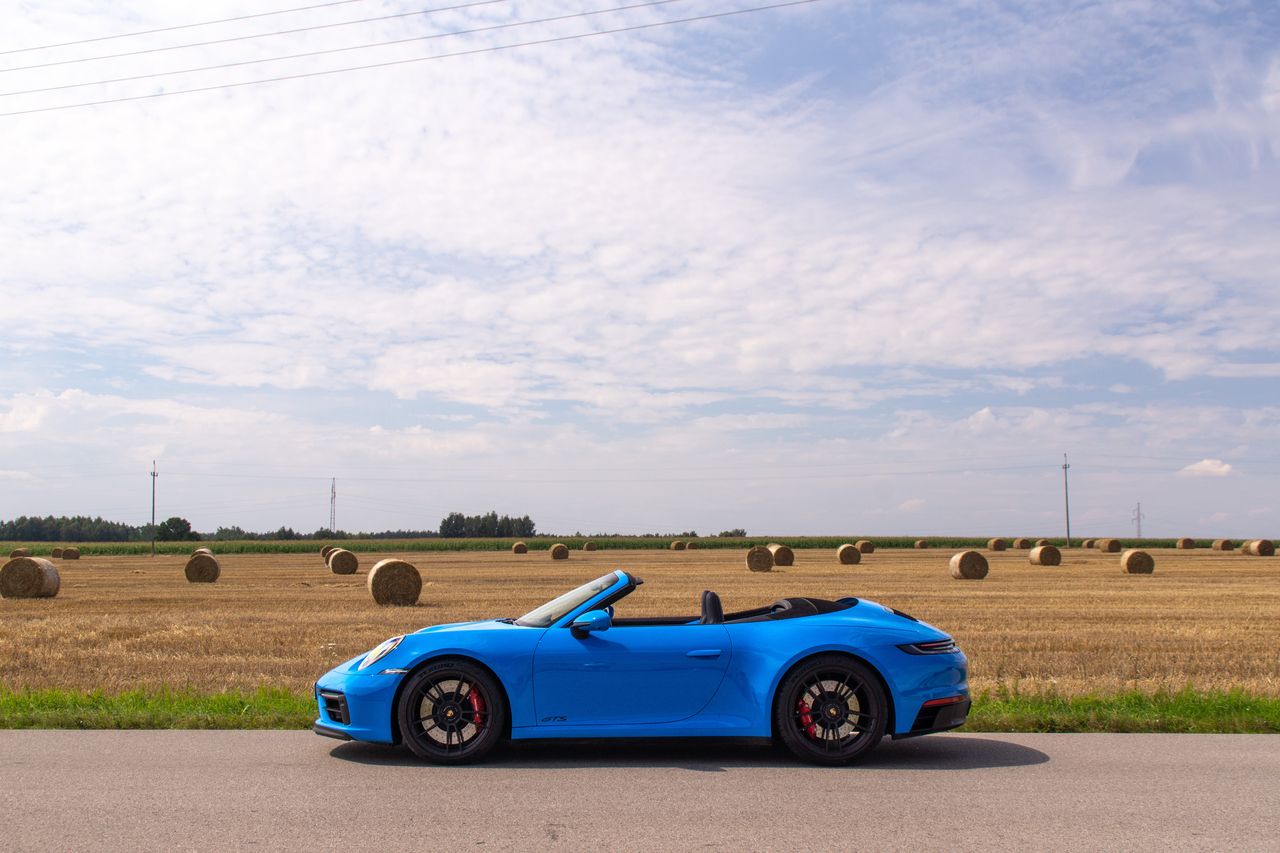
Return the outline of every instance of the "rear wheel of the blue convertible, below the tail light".
<path id="1" fill-rule="evenodd" d="M 884 736 L 888 702 L 867 665 L 842 654 L 822 654 L 782 679 L 773 721 L 782 743 L 797 758 L 849 765 Z"/>

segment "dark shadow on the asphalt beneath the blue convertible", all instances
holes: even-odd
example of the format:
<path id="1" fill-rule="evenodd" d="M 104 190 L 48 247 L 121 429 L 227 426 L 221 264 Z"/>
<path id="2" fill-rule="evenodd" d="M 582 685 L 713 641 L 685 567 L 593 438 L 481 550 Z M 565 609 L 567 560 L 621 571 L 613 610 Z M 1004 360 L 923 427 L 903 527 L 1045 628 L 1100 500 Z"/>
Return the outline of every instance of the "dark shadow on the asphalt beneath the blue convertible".
<path id="1" fill-rule="evenodd" d="M 334 747 L 334 758 L 361 765 L 428 767 L 402 747 L 344 743 Z M 884 739 L 876 752 L 852 767 L 859 770 L 983 770 L 1025 767 L 1050 760 L 1039 749 L 1001 739 L 1000 735 L 966 738 L 948 734 L 909 740 Z M 548 770 L 585 767 L 671 767 L 723 772 L 736 767 L 812 767 L 781 747 L 758 742 L 710 740 L 563 740 L 512 743 L 498 749 L 477 768 Z M 823 770 L 823 768 L 815 768 Z"/>

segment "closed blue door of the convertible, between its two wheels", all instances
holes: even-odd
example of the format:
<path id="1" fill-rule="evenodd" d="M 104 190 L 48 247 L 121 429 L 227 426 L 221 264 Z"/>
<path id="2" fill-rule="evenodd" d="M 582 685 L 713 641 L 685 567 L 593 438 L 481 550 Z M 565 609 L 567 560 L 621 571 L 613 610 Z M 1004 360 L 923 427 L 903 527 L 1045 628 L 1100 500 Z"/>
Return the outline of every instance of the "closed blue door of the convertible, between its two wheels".
<path id="1" fill-rule="evenodd" d="M 728 669 L 723 625 L 632 625 L 543 634 L 534 652 L 539 725 L 650 725 L 701 711 Z"/>

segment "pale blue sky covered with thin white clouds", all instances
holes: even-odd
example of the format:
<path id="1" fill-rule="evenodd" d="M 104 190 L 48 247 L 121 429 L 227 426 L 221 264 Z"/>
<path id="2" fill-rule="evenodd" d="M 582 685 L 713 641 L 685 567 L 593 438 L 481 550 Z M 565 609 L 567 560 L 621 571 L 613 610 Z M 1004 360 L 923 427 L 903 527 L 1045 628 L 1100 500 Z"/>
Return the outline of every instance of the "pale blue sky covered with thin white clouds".
<path id="1" fill-rule="evenodd" d="M 0 519 L 1280 533 L 1280 5 L 289 3 L 0 0 Z"/>

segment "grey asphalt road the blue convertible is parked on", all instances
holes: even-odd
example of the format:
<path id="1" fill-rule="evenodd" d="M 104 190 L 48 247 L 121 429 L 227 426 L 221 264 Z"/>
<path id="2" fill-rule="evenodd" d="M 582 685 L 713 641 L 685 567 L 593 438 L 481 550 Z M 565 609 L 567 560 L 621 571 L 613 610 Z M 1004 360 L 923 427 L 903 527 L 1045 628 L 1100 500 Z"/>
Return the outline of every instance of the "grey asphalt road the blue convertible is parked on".
<path id="1" fill-rule="evenodd" d="M 4 850 L 1280 850 L 1280 736 L 535 745 L 475 767 L 301 731 L 0 731 Z"/>

